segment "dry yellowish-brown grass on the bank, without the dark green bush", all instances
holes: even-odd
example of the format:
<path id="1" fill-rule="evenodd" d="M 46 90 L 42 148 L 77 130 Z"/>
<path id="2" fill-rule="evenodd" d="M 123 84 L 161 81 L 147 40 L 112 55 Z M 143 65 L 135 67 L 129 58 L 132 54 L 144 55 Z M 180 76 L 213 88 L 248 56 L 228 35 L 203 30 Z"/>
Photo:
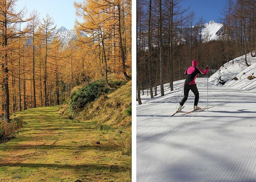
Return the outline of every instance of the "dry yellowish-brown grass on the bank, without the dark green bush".
<path id="1" fill-rule="evenodd" d="M 131 116 L 125 115 L 125 110 L 131 104 L 131 81 L 108 95 L 103 95 L 95 102 L 89 103 L 76 119 L 95 120 L 97 123 L 112 127 L 126 127 L 131 130 Z M 63 105 L 60 112 L 68 115 L 68 104 Z"/>

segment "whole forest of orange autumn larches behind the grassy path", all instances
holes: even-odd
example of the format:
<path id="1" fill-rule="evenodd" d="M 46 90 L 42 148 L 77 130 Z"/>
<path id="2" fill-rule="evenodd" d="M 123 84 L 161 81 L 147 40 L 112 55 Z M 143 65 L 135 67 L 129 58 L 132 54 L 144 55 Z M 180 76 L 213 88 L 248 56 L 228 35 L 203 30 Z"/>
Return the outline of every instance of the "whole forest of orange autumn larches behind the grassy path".
<path id="1" fill-rule="evenodd" d="M 61 105 L 73 87 L 93 80 L 131 79 L 131 1 L 74 2 L 76 38 L 56 36 L 50 14 L 17 11 L 0 2 L 1 118 L 40 106 Z M 111 83 L 109 83 L 111 87 Z"/>

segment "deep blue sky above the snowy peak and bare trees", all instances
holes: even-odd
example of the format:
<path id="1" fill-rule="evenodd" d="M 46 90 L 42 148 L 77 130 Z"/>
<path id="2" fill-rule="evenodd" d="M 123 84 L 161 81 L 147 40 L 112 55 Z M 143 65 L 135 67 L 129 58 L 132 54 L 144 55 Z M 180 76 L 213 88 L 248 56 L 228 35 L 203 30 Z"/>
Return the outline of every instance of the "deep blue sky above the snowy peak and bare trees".
<path id="1" fill-rule="evenodd" d="M 219 23 L 221 11 L 226 5 L 226 0 L 183 0 L 183 7 L 190 6 L 190 10 L 195 11 L 196 18 L 201 16 L 206 20 L 206 23 L 213 20 Z"/>

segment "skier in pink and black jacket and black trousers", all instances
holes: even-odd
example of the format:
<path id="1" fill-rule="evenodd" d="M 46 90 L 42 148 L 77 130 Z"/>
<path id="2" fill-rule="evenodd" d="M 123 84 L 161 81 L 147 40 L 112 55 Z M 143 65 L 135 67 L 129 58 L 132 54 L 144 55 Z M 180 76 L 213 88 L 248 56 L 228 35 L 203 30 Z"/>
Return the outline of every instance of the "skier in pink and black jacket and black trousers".
<path id="1" fill-rule="evenodd" d="M 183 109 L 183 105 L 184 105 L 184 103 L 186 102 L 186 100 L 188 98 L 188 92 L 190 90 L 195 95 L 194 110 L 201 109 L 200 107 L 197 106 L 198 100 L 199 100 L 199 92 L 198 92 L 195 80 L 196 80 L 196 77 L 197 77 L 198 73 L 207 74 L 208 71 L 209 71 L 209 66 L 208 65 L 206 66 L 206 70 L 201 70 L 197 66 L 198 66 L 198 62 L 197 62 L 197 60 L 194 59 L 192 61 L 192 66 L 189 67 L 186 70 L 186 72 L 184 73 L 185 75 L 187 75 L 187 79 L 184 82 L 184 97 L 180 101 L 180 106 L 178 107 L 177 112 L 180 112 L 181 109 Z"/>

